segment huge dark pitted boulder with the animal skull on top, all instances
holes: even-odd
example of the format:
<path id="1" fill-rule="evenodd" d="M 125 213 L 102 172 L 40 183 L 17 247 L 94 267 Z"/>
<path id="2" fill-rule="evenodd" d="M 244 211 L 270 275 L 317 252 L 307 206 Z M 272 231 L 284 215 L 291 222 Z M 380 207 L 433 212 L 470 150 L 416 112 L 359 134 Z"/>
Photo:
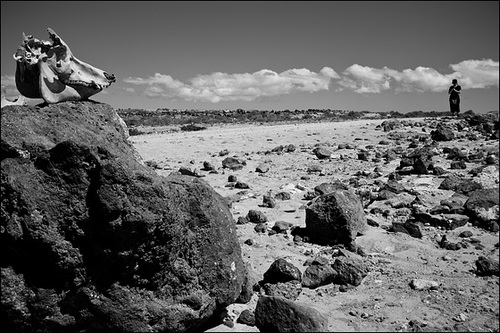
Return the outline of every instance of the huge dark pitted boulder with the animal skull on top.
<path id="1" fill-rule="evenodd" d="M 238 298 L 224 199 L 140 163 L 109 105 L 1 115 L 4 331 L 186 331 Z"/>

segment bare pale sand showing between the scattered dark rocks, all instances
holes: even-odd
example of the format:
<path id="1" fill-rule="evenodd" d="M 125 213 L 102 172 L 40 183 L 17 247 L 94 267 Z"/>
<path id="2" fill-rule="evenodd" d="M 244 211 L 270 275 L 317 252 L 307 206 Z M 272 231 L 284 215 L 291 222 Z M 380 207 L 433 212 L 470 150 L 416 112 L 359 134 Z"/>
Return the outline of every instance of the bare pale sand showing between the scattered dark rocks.
<path id="1" fill-rule="evenodd" d="M 197 132 L 164 132 L 132 136 L 130 141 L 144 161 L 154 161 L 160 175 L 168 175 L 181 166 L 203 169 L 208 161 L 218 173 L 200 171 L 218 193 L 223 196 L 242 191 L 227 187 L 228 176 L 234 175 L 238 181 L 249 185 L 246 195 L 233 203 L 232 213 L 236 220 L 246 216 L 250 209 L 262 211 L 271 228 L 276 221 L 287 221 L 295 226 L 305 227 L 304 205 L 308 200 L 304 195 L 315 186 L 334 180 L 347 180 L 357 172 L 373 171 L 378 167 L 387 181 L 387 175 L 399 165 L 399 159 L 391 163 L 362 161 L 357 158 L 360 149 L 385 151 L 394 146 L 387 134 L 375 127 L 383 120 L 359 120 L 338 123 L 305 123 L 279 125 L 223 125 L 210 126 Z M 410 119 L 408 121 L 424 121 Z M 429 123 L 429 120 L 425 120 Z M 401 130 L 400 130 L 401 131 Z M 427 128 L 424 133 L 429 133 Z M 421 127 L 405 127 L 406 133 L 423 133 Z M 390 146 L 381 141 L 391 142 Z M 341 143 L 352 144 L 355 149 L 338 149 Z M 292 153 L 268 153 L 279 145 L 293 144 Z M 408 149 L 406 140 L 401 146 Z M 313 149 L 317 146 L 333 152 L 330 159 L 319 160 Z M 368 146 L 368 147 L 367 147 Z M 498 141 L 455 140 L 452 144 L 464 149 L 489 147 L 498 150 Z M 219 156 L 227 149 L 229 155 Z M 238 171 L 222 168 L 222 160 L 227 156 L 237 156 L 246 160 L 247 165 Z M 258 173 L 256 167 L 266 162 L 270 165 L 267 173 Z M 436 157 L 435 165 L 449 169 L 449 160 Z M 319 165 L 322 173 L 309 173 L 310 166 Z M 466 175 L 475 167 L 467 164 L 466 170 L 451 170 Z M 498 165 L 489 174 L 482 176 L 487 187 L 498 187 Z M 453 192 L 438 190 L 442 178 L 432 175 L 404 176 L 401 183 L 423 193 L 428 204 L 438 204 L 449 198 Z M 373 182 L 373 180 L 372 180 Z M 291 193 L 291 200 L 277 200 L 274 208 L 262 206 L 264 194 L 280 191 Z M 388 232 L 382 226 L 390 221 L 380 219 L 381 226 L 369 227 L 368 232 L 357 238 L 358 245 L 368 254 L 366 260 L 371 272 L 362 284 L 347 292 L 340 292 L 338 286 L 327 285 L 316 289 L 303 288 L 297 299 L 307 303 L 329 318 L 329 331 L 498 331 L 499 329 L 499 279 L 498 277 L 478 277 L 475 275 L 475 261 L 480 255 L 498 258 L 498 233 L 491 233 L 467 224 L 451 231 L 426 227 L 421 239 L 402 233 Z M 319 245 L 304 243 L 296 245 L 290 235 L 269 236 L 254 231 L 254 224 L 237 225 L 243 260 L 251 265 L 260 279 L 269 266 L 278 258 L 293 263 L 302 272 L 304 262 L 321 250 Z M 450 241 L 457 242 L 458 234 L 470 230 L 473 238 L 479 240 L 483 248 L 471 244 L 466 249 L 449 251 L 441 249 L 437 241 L 446 234 Z M 253 245 L 244 242 L 254 241 Z M 412 279 L 426 279 L 440 284 L 437 290 L 413 290 Z M 244 309 L 253 311 L 257 295 L 247 304 L 228 307 L 228 317 L 235 323 L 233 327 L 221 324 L 209 331 L 258 332 L 256 327 L 236 323 L 237 316 Z"/>

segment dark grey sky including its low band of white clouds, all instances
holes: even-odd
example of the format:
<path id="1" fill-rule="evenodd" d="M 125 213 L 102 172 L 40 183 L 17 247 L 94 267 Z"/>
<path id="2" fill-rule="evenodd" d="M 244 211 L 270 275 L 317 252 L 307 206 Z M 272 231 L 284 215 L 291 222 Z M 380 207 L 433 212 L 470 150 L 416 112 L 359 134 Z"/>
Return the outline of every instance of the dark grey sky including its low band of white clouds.
<path id="1" fill-rule="evenodd" d="M 499 109 L 498 1 L 2 1 L 1 79 L 23 32 L 116 76 L 118 108 Z"/>

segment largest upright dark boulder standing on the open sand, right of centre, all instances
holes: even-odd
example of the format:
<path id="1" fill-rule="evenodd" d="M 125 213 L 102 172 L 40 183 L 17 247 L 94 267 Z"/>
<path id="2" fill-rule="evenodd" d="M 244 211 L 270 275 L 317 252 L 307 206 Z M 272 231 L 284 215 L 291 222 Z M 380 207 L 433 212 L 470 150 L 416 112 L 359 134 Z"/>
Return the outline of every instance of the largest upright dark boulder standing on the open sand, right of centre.
<path id="1" fill-rule="evenodd" d="M 321 195 L 306 207 L 306 231 L 312 242 L 355 248 L 356 236 L 367 229 L 361 201 L 351 190 Z"/>

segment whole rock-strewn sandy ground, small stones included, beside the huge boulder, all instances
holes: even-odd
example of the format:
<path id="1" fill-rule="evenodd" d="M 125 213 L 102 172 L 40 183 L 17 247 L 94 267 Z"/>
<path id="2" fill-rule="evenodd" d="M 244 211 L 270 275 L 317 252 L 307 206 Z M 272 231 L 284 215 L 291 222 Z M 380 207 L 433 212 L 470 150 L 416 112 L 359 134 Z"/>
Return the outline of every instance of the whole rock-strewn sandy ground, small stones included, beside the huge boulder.
<path id="1" fill-rule="evenodd" d="M 277 259 L 304 273 L 313 258 L 331 256 L 332 247 L 293 235 L 318 185 L 340 181 L 360 197 L 368 230 L 356 245 L 368 274 L 356 287 L 301 287 L 295 299 L 324 314 L 329 331 L 498 331 L 499 141 L 490 125 L 419 118 L 149 130 L 129 138 L 146 165 L 202 177 L 228 198 L 256 282 Z M 476 189 L 497 197 L 480 222 L 464 212 Z M 263 232 L 245 219 L 251 210 L 267 217 Z M 292 227 L 276 233 L 277 221 Z M 417 234 L 396 230 L 406 222 Z M 481 256 L 496 271 L 478 274 Z M 258 332 L 238 319 L 244 310 L 252 317 L 258 294 L 229 306 L 209 331 Z"/>

